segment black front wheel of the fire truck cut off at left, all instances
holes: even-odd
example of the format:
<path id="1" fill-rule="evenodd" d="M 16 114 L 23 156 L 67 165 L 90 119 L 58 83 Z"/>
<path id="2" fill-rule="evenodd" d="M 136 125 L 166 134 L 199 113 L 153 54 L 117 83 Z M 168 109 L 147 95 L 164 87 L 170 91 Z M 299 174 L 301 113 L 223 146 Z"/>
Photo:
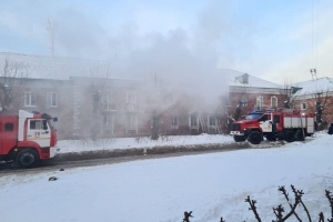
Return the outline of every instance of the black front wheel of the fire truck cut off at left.
<path id="1" fill-rule="evenodd" d="M 36 150 L 26 148 L 18 153 L 16 162 L 19 168 L 33 168 L 39 162 L 39 154 Z"/>

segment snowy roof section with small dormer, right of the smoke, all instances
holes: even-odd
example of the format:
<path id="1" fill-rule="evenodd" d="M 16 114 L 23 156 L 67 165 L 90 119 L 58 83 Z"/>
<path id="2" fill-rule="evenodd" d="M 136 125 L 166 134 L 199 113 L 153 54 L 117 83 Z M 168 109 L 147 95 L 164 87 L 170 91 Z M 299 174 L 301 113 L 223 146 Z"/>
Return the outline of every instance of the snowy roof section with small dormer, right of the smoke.
<path id="1" fill-rule="evenodd" d="M 241 77 L 243 77 L 243 72 L 239 72 L 232 69 L 220 69 L 219 73 L 222 74 L 225 79 L 229 85 L 234 87 L 253 87 L 253 88 L 279 88 L 281 89 L 282 85 L 270 82 L 263 79 L 260 79 L 258 77 L 248 74 L 249 83 L 242 83 Z"/>

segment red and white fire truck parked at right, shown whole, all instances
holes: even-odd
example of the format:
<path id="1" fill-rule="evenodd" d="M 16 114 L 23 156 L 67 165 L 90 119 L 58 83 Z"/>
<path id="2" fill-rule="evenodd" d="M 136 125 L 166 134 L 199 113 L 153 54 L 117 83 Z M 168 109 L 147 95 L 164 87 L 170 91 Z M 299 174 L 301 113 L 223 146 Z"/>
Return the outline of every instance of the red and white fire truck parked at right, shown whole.
<path id="1" fill-rule="evenodd" d="M 303 141 L 314 133 L 314 114 L 294 109 L 254 110 L 242 120 L 233 122 L 231 135 L 235 142 L 248 140 L 259 144 L 266 140 Z"/>

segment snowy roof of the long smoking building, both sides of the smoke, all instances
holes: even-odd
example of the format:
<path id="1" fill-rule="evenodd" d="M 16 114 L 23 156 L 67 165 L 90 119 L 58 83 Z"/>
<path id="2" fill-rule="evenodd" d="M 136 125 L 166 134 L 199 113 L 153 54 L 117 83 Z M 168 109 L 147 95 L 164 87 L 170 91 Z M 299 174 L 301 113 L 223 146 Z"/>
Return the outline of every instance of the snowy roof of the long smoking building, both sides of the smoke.
<path id="1" fill-rule="evenodd" d="M 110 64 L 107 60 L 98 61 L 89 59 L 0 52 L 0 67 L 4 64 L 6 59 L 27 65 L 30 78 L 33 79 L 69 80 L 70 77 L 111 78 L 107 77 L 110 71 Z M 280 84 L 251 74 L 248 74 L 249 83 L 243 83 L 243 72 L 232 69 L 219 69 L 218 75 L 212 78 L 215 79 L 213 83 L 215 83 L 215 87 L 219 89 L 223 83 L 234 87 L 282 88 Z M 112 79 L 114 79 L 114 77 L 112 77 Z"/>

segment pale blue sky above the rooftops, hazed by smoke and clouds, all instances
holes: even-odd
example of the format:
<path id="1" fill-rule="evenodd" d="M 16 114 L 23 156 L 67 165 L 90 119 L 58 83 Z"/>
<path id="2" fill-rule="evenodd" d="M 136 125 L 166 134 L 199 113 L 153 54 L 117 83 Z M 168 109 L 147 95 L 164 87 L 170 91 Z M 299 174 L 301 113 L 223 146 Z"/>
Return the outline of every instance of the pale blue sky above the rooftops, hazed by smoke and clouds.
<path id="1" fill-rule="evenodd" d="M 49 17 L 57 57 L 202 63 L 276 83 L 309 80 L 313 68 L 333 78 L 332 0 L 2 0 L 0 51 L 48 56 Z"/>

